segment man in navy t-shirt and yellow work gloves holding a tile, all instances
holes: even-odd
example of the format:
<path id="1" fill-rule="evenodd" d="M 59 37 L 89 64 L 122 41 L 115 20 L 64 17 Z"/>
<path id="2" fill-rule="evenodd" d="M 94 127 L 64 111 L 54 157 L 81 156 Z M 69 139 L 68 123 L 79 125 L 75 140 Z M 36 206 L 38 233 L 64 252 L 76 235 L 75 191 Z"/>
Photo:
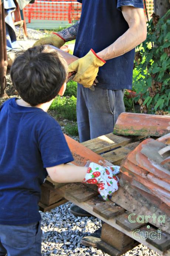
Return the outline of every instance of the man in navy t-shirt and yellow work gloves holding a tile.
<path id="1" fill-rule="evenodd" d="M 83 142 L 112 132 L 119 114 L 125 111 L 123 96 L 124 89 L 132 86 L 134 48 L 146 39 L 147 29 L 143 0 L 78 2 L 82 3 L 80 21 L 36 45 L 61 47 L 76 38 L 74 55 L 80 59 L 69 65 L 69 71 L 77 72 L 76 111 Z M 94 91 L 89 89 L 93 81 Z"/>

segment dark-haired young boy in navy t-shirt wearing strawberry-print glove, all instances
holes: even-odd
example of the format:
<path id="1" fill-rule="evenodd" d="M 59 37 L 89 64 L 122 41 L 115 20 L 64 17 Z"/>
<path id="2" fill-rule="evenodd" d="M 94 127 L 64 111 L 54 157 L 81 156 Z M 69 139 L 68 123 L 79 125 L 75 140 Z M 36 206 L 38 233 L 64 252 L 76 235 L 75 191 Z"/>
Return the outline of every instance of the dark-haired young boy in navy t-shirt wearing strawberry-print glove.
<path id="1" fill-rule="evenodd" d="M 40 256 L 38 201 L 47 175 L 60 183 L 96 184 L 105 200 L 118 181 L 110 167 L 66 164 L 74 159 L 59 124 L 47 114 L 66 88 L 62 56 L 47 46 L 30 48 L 14 61 L 11 79 L 21 99 L 0 108 L 0 256 Z"/>

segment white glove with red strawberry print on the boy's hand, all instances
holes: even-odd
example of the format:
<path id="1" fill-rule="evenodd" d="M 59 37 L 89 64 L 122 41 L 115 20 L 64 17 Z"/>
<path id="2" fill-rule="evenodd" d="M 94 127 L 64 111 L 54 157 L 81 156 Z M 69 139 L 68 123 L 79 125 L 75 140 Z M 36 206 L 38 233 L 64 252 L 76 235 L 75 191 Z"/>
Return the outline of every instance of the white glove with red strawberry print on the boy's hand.
<path id="1" fill-rule="evenodd" d="M 101 166 L 96 163 L 90 163 L 86 176 L 82 183 L 96 184 L 98 192 L 102 198 L 108 201 L 108 196 L 111 196 L 119 186 L 119 178 L 116 174 L 119 173 L 119 166 Z"/>

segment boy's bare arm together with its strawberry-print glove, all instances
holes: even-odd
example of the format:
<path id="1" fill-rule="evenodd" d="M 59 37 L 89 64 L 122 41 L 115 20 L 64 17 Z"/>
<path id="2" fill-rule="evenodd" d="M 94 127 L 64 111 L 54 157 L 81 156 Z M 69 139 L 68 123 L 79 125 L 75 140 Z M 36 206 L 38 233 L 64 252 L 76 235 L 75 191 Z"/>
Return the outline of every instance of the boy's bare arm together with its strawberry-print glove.
<path id="1" fill-rule="evenodd" d="M 98 192 L 104 200 L 118 190 L 119 172 L 118 166 L 103 167 L 96 163 L 90 163 L 89 167 L 79 167 L 72 164 L 60 164 L 54 167 L 46 167 L 50 178 L 58 183 L 82 182 L 96 184 Z"/>

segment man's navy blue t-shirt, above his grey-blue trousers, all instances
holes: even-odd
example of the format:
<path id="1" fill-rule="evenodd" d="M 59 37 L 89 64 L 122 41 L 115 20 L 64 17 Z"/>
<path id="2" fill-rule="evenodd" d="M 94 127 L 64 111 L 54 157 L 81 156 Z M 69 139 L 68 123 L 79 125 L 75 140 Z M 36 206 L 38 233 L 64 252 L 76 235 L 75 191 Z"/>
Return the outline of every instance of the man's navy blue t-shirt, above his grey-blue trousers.
<path id="1" fill-rule="evenodd" d="M 81 58 L 92 48 L 96 53 L 105 49 L 128 29 L 121 6 L 143 8 L 143 0 L 77 0 L 82 13 L 76 36 L 74 55 Z M 99 68 L 97 86 L 120 90 L 132 88 L 135 49 L 107 60 Z"/>

